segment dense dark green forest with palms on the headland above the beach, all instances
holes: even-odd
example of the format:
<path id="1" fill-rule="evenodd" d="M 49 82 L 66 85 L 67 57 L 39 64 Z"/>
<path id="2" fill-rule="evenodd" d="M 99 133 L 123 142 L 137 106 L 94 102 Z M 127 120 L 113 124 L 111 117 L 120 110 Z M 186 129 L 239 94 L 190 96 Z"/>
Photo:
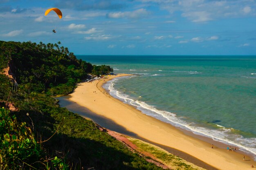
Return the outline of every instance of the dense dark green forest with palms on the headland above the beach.
<path id="1" fill-rule="evenodd" d="M 113 69 L 108 65 L 92 65 L 76 59 L 68 48 L 57 44 L 0 41 L 0 69 L 8 65 L 18 84 L 27 92 L 44 92 L 51 87 L 51 93 L 71 92 L 70 85 L 84 79 L 88 73 L 109 74 Z M 18 75 L 18 76 L 17 76 Z"/>

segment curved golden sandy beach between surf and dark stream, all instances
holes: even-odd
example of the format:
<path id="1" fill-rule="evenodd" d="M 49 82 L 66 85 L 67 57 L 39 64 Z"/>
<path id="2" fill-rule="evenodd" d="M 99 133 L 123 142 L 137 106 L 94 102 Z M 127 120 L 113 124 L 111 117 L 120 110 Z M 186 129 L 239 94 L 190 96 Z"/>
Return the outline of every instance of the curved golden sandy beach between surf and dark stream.
<path id="1" fill-rule="evenodd" d="M 252 165 L 256 167 L 256 162 L 247 155 L 243 160 L 242 153 L 227 151 L 219 147 L 211 148 L 211 143 L 186 135 L 170 124 L 147 116 L 134 107 L 113 98 L 107 94 L 102 85 L 118 76 L 128 76 L 128 74 L 111 75 L 101 80 L 81 83 L 70 95 L 69 100 L 114 121 L 148 141 L 181 150 L 217 169 L 247 170 L 253 169 Z"/>

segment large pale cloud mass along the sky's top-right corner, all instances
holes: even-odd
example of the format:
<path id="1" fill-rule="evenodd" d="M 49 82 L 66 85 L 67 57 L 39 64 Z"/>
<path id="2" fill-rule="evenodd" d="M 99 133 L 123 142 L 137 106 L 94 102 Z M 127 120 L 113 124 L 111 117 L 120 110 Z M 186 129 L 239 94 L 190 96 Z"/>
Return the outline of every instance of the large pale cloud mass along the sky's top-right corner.
<path id="1" fill-rule="evenodd" d="M 173 14 L 176 11 L 192 22 L 209 22 L 222 18 L 255 16 L 255 0 L 142 0 L 155 2 L 160 9 Z M 247 15 L 243 15 L 247 14 Z"/>

